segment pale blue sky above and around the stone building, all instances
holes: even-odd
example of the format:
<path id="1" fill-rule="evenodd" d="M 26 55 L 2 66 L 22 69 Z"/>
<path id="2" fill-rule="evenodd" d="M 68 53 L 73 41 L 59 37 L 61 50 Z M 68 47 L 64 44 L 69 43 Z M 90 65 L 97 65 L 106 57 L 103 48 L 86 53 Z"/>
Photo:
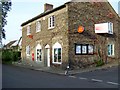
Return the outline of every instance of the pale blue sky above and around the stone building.
<path id="1" fill-rule="evenodd" d="M 58 7 L 70 0 L 12 0 L 12 9 L 8 12 L 6 30 L 6 39 L 3 44 L 12 40 L 18 40 L 22 36 L 21 24 L 44 11 L 44 4 L 50 3 Z M 118 1 L 108 0 L 114 10 L 118 13 Z"/>

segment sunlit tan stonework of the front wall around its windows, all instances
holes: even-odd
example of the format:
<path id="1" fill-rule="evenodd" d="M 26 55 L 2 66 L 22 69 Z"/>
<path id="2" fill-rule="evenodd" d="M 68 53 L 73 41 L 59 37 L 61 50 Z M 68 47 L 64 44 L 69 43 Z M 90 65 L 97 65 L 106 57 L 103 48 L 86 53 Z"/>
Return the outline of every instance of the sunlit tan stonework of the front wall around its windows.
<path id="1" fill-rule="evenodd" d="M 54 15 L 55 16 L 55 27 L 53 29 L 48 29 L 48 18 Z M 31 22 L 31 34 L 33 35 L 33 39 L 27 37 L 27 25 L 22 29 L 22 58 L 24 61 L 28 61 L 30 63 L 36 62 L 31 60 L 31 56 L 26 56 L 26 46 L 31 46 L 31 53 L 35 53 L 35 48 L 37 44 L 42 46 L 42 62 L 37 63 L 38 66 L 45 66 L 45 59 L 44 59 L 44 50 L 45 46 L 48 44 L 50 45 L 50 63 L 52 64 L 52 46 L 59 42 L 62 46 L 62 63 L 67 63 L 68 60 L 68 13 L 66 8 L 62 8 L 57 10 L 51 14 L 48 14 L 44 17 L 41 17 L 39 20 L 41 22 L 41 31 L 36 33 L 36 21 Z M 64 66 L 64 64 L 62 64 Z M 53 65 L 53 66 L 60 66 L 62 65 Z"/>

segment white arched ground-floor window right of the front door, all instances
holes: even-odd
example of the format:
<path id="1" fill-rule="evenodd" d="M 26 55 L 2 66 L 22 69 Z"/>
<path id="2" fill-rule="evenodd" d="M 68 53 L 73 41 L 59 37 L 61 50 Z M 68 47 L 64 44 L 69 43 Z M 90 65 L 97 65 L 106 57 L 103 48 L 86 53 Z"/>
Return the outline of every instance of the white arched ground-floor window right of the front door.
<path id="1" fill-rule="evenodd" d="M 53 63 L 61 64 L 62 62 L 62 47 L 59 43 L 53 46 Z"/>

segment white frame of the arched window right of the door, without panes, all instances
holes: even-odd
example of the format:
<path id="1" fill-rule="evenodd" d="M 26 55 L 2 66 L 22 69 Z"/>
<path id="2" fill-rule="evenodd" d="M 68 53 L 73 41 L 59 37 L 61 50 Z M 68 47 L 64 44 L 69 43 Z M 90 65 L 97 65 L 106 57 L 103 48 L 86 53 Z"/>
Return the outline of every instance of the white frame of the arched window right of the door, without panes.
<path id="1" fill-rule="evenodd" d="M 57 62 L 55 62 L 54 61 L 54 50 L 55 49 L 61 49 L 61 62 L 58 62 L 58 57 L 57 57 Z M 57 42 L 57 43 L 55 43 L 54 45 L 53 45 L 53 54 L 52 54 L 52 58 L 53 58 L 53 60 L 52 60 L 52 63 L 53 64 L 62 64 L 62 46 Z M 57 56 L 58 56 L 58 54 L 57 54 Z"/>

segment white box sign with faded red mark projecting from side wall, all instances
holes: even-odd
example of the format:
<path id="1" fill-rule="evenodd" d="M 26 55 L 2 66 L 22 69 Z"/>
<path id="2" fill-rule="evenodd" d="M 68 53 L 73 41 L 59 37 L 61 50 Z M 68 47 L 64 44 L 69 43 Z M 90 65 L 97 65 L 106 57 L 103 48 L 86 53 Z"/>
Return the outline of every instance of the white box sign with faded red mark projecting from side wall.
<path id="1" fill-rule="evenodd" d="M 95 24 L 95 33 L 113 34 L 113 23 L 107 22 Z"/>

